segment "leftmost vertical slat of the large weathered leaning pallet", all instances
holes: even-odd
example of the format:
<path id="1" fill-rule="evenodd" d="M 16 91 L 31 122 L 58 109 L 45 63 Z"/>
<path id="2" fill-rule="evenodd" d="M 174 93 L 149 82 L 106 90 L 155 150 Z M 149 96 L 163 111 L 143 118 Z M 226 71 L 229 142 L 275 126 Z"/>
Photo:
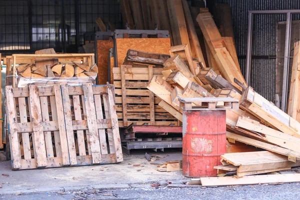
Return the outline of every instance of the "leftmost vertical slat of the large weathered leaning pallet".
<path id="1" fill-rule="evenodd" d="M 16 131 L 17 118 L 16 118 L 15 108 L 14 108 L 12 86 L 6 86 L 5 92 L 6 92 L 6 106 L 7 106 L 6 113 L 8 117 L 7 122 L 8 122 L 8 129 L 9 129 L 8 136 L 9 136 L 9 146 L 11 152 L 11 167 L 13 169 L 18 169 L 21 167 L 20 165 L 21 153 L 19 151 L 20 143 Z"/>

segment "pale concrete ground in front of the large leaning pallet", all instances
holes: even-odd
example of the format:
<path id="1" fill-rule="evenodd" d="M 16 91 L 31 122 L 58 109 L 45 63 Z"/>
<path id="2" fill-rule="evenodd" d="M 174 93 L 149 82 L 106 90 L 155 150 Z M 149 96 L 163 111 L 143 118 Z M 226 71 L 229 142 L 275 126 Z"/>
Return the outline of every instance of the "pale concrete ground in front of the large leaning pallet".
<path id="1" fill-rule="evenodd" d="M 182 159 L 181 151 L 167 152 L 148 151 L 149 154 L 167 155 L 153 162 L 156 165 L 170 160 Z M 133 166 L 140 164 L 140 166 Z M 124 161 L 117 164 L 58 167 L 31 170 L 16 170 L 10 168 L 10 161 L 0 162 L 0 194 L 68 191 L 81 188 L 128 188 L 134 184 L 151 184 L 166 180 L 181 183 L 188 178 L 181 171 L 159 172 L 156 165 L 150 164 L 143 152 L 131 153 L 124 156 Z M 7 174 L 4 176 L 1 174 Z"/>

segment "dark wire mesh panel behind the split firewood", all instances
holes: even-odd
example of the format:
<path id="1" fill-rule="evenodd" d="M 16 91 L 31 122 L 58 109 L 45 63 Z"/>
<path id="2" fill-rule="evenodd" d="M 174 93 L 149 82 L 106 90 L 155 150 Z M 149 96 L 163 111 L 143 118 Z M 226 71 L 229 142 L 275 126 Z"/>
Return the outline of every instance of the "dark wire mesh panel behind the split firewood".
<path id="1" fill-rule="evenodd" d="M 120 28 L 119 9 L 117 0 L 0 0 L 0 50 L 77 52 L 97 17 Z"/>

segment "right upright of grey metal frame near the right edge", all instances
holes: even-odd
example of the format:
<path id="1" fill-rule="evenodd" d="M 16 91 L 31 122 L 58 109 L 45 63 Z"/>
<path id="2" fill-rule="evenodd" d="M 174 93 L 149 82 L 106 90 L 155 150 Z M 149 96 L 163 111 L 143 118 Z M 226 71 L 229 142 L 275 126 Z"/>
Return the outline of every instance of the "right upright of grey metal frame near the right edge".
<path id="1" fill-rule="evenodd" d="M 283 62 L 283 81 L 282 81 L 282 96 L 281 110 L 285 111 L 287 101 L 287 85 L 288 85 L 288 62 L 289 62 L 289 46 L 290 46 L 290 27 L 291 27 L 291 12 L 286 13 L 286 29 L 285 29 L 285 46 L 284 46 L 284 62 Z"/>

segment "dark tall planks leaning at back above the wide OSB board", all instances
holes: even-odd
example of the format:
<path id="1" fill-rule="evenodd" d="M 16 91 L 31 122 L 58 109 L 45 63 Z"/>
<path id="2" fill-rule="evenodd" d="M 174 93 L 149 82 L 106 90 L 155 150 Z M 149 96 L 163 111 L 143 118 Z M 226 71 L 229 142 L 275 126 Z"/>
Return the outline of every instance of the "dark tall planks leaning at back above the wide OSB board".
<path id="1" fill-rule="evenodd" d="M 168 30 L 171 44 L 186 44 L 201 66 L 206 66 L 186 0 L 120 0 L 124 25 L 130 29 Z"/>

